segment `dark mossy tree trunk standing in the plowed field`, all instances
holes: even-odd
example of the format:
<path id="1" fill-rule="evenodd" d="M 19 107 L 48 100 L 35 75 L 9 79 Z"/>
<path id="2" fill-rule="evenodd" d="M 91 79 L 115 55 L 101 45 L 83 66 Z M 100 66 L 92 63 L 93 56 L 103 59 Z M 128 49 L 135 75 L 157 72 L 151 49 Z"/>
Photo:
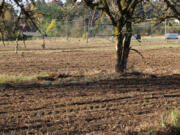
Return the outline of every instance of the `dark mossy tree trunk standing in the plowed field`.
<path id="1" fill-rule="evenodd" d="M 132 24 L 131 22 L 126 23 L 126 32 L 122 33 L 119 29 L 117 35 L 117 46 L 116 46 L 116 72 L 124 73 L 127 67 L 127 61 L 130 51 L 130 42 L 132 37 Z"/>

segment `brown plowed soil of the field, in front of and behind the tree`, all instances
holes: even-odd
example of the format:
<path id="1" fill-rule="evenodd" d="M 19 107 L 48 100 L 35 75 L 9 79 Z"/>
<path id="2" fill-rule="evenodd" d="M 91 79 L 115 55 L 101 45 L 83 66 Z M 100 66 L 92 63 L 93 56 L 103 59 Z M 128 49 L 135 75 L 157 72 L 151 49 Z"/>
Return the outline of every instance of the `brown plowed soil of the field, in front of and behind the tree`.
<path id="1" fill-rule="evenodd" d="M 180 48 L 140 50 L 144 59 L 132 52 L 132 73 L 121 76 L 110 74 L 113 49 L 88 47 L 1 53 L 1 74 L 78 73 L 81 82 L 1 86 L 0 134 L 143 134 L 169 109 L 180 109 Z"/>

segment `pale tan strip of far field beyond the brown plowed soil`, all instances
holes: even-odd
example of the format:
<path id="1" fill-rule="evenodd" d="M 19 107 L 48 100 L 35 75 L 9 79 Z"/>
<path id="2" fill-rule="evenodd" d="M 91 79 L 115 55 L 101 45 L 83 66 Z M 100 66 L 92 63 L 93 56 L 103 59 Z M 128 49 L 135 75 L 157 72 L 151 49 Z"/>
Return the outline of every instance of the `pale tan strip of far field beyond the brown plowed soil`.
<path id="1" fill-rule="evenodd" d="M 77 38 L 71 38 L 69 40 L 65 38 L 48 38 L 45 40 L 46 48 L 43 50 L 41 46 L 43 41 L 41 39 L 27 40 L 25 43 L 27 48 L 24 47 L 22 41 L 19 41 L 19 52 L 52 53 L 64 51 L 104 51 L 114 50 L 116 44 L 115 42 L 102 38 L 90 38 L 88 44 L 86 40 Z M 3 47 L 1 43 L 0 53 L 15 52 L 15 41 L 5 42 L 5 44 L 6 47 Z M 135 49 L 179 48 L 180 41 L 165 41 L 162 37 L 142 37 L 142 42 L 132 40 L 131 46 Z"/>

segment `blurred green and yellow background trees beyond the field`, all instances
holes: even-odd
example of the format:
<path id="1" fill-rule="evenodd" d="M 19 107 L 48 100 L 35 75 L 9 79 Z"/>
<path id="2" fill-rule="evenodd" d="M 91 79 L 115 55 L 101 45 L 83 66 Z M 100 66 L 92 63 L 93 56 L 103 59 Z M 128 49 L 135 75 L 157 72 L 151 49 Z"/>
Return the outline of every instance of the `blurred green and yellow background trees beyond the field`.
<path id="1" fill-rule="evenodd" d="M 2 4 L 3 3 L 1 3 L 1 6 Z M 36 24 L 38 25 L 40 31 L 48 36 L 67 36 L 67 34 L 69 34 L 73 37 L 85 38 L 85 31 L 87 26 L 87 23 L 85 22 L 86 19 L 91 19 L 90 25 L 93 26 L 89 29 L 89 36 L 93 36 L 95 35 L 95 33 L 98 33 L 103 29 L 106 29 L 105 27 L 109 27 L 108 25 L 100 27 L 98 26 L 98 23 L 110 23 L 107 19 L 101 18 L 102 16 L 104 16 L 102 12 L 98 10 L 92 11 L 89 8 L 84 8 L 83 2 L 79 2 L 77 7 L 73 6 L 73 4 L 73 0 L 66 0 L 65 3 L 63 3 L 61 0 L 53 0 L 51 2 L 45 2 L 45 0 L 37 0 L 34 2 L 34 4 L 26 4 L 25 8 L 26 10 L 31 11 L 31 14 L 33 14 L 32 16 L 34 16 L 34 20 L 36 21 Z M 154 8 L 152 4 L 158 8 Z M 37 29 L 30 22 L 27 23 L 27 21 L 24 19 L 25 17 L 23 14 L 20 15 L 21 21 L 19 21 L 18 24 L 16 24 L 18 20 L 18 11 L 11 4 L 4 2 L 4 5 L 2 7 L 3 8 L 1 10 L 6 11 L 5 14 L 1 14 L 0 17 L 1 39 L 14 40 L 18 35 L 17 30 L 15 32 L 16 25 L 18 25 L 18 29 L 20 29 L 21 31 L 37 31 Z M 135 18 L 156 18 L 158 16 L 163 15 L 163 10 L 158 9 L 165 8 L 165 4 L 160 1 L 152 1 L 152 3 L 143 2 L 137 5 L 134 12 L 134 16 Z M 178 10 L 180 10 L 180 8 L 178 8 Z M 170 9 L 168 9 L 167 12 L 168 14 L 171 14 Z M 175 23 L 174 21 L 167 21 L 167 26 L 171 27 L 171 29 L 168 29 L 169 32 L 176 31 L 180 33 L 180 25 Z M 11 30 L 12 27 L 14 29 L 14 32 Z M 136 25 L 133 26 L 133 32 L 141 33 L 142 35 L 151 35 L 152 33 L 154 35 L 164 34 L 163 25 L 160 25 L 160 27 L 158 27 L 158 30 L 156 29 L 154 31 L 152 31 L 152 27 L 153 25 L 150 23 L 147 23 L 144 27 Z"/>

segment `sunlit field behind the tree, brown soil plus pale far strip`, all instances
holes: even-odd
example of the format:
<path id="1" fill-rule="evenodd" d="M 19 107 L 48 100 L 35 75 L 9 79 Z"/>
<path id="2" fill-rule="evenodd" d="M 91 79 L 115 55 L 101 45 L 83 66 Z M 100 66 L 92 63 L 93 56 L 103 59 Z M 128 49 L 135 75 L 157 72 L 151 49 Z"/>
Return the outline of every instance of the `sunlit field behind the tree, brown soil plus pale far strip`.
<path id="1" fill-rule="evenodd" d="M 6 43 L 6 47 L 0 46 L 0 55 L 1 58 L 3 58 L 0 60 L 1 73 L 29 75 L 41 72 L 54 73 L 59 71 L 114 71 L 115 43 L 107 40 L 93 39 L 87 44 L 82 39 L 70 39 L 69 41 L 61 38 L 48 39 L 46 40 L 45 49 L 41 48 L 42 40 L 39 39 L 27 41 L 26 48 L 24 48 L 22 41 L 20 41 L 19 44 L 18 54 L 14 51 L 15 42 Z M 132 51 L 129 58 L 129 69 L 133 66 L 131 70 L 140 69 L 140 72 L 146 72 L 147 67 L 143 69 L 146 65 L 142 64 L 143 62 L 152 63 L 158 61 L 156 63 L 159 66 L 159 64 L 163 64 L 164 61 L 168 62 L 167 56 L 168 59 L 175 58 L 173 61 L 176 63 L 178 61 L 176 57 L 177 59 L 179 58 L 179 47 L 180 44 L 174 42 L 160 41 L 159 43 L 154 43 L 132 41 L 132 48 L 139 50 L 145 59 L 143 60 L 138 54 Z M 135 59 L 138 59 L 138 62 L 136 62 L 137 60 Z M 99 66 L 99 62 L 102 62 L 101 65 L 103 65 L 103 67 Z M 152 68 L 153 66 L 150 64 L 148 67 Z M 151 73 L 167 71 L 169 73 L 174 73 L 178 71 L 176 67 L 178 66 L 174 67 L 176 71 L 173 71 L 169 68 L 162 70 L 164 67 L 160 66 L 158 67 L 159 70 L 152 69 L 153 72 Z"/>

